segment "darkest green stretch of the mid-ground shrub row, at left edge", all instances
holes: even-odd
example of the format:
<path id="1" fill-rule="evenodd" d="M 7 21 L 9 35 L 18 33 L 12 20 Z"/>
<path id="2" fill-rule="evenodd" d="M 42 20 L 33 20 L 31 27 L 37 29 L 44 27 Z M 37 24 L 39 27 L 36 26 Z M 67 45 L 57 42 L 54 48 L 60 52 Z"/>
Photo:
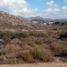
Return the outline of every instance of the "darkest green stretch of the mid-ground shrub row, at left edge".
<path id="1" fill-rule="evenodd" d="M 25 38 L 27 37 L 27 33 L 24 33 L 24 32 L 1 32 L 0 31 L 0 38 L 3 38 L 3 37 L 8 37 L 8 38 Z"/>

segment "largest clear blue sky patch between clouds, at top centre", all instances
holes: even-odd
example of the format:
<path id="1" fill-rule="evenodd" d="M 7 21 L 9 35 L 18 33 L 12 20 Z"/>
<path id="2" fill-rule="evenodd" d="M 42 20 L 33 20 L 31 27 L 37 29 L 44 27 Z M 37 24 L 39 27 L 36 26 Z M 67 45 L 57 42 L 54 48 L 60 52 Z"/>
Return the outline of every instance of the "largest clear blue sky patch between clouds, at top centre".
<path id="1" fill-rule="evenodd" d="M 44 9 L 46 0 L 27 0 L 32 8 Z"/>

